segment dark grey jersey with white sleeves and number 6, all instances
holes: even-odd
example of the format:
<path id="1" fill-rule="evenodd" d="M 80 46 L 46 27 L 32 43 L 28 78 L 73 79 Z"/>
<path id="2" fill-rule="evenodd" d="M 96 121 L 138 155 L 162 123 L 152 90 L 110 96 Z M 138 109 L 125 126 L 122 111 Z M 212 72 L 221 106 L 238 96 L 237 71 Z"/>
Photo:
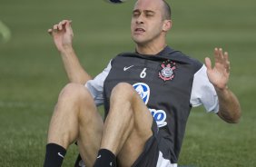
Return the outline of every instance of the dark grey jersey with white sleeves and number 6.
<path id="1" fill-rule="evenodd" d="M 206 67 L 169 46 L 156 55 L 118 54 L 103 73 L 85 84 L 94 102 L 104 104 L 105 116 L 112 89 L 121 82 L 132 84 L 153 114 L 164 139 L 159 145 L 162 161 L 177 163 L 192 106 L 203 104 L 212 113 L 219 110 Z"/>

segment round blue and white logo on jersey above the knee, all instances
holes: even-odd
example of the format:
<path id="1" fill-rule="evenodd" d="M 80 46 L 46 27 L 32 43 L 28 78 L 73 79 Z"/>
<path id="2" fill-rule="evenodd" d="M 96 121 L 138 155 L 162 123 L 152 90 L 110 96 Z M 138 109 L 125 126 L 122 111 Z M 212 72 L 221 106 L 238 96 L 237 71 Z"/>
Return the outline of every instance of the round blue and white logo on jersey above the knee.
<path id="1" fill-rule="evenodd" d="M 150 97 L 150 88 L 146 83 L 134 83 L 133 88 L 142 97 L 145 104 L 148 103 Z"/>

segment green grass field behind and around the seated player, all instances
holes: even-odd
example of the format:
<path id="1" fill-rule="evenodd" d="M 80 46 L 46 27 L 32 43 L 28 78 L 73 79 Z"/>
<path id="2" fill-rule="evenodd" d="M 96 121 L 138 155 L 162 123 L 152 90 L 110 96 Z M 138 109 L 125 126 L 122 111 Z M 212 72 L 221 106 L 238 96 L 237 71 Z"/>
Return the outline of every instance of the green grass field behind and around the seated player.
<path id="1" fill-rule="evenodd" d="M 203 61 L 215 46 L 229 51 L 229 86 L 241 102 L 239 124 L 223 123 L 202 108 L 192 110 L 179 164 L 183 167 L 256 166 L 256 1 L 167 0 L 173 27 L 168 44 Z M 0 0 L 0 166 L 42 166 L 48 123 L 58 93 L 68 82 L 47 29 L 73 20 L 74 48 L 84 68 L 95 75 L 109 59 L 133 51 L 130 17 L 133 0 L 109 5 L 103 0 Z M 5 32 L 4 32 L 5 34 Z M 76 147 L 64 166 L 73 166 Z"/>

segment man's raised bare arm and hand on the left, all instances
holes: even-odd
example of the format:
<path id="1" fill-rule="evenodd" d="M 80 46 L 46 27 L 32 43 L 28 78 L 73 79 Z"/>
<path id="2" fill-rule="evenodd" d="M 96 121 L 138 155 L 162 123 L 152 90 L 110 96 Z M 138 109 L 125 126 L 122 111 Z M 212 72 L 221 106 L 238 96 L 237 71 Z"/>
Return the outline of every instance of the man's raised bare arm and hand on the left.
<path id="1" fill-rule="evenodd" d="M 73 30 L 71 21 L 63 20 L 48 30 L 54 38 L 54 44 L 62 55 L 65 72 L 71 83 L 84 84 L 92 77 L 84 71 L 72 46 Z"/>

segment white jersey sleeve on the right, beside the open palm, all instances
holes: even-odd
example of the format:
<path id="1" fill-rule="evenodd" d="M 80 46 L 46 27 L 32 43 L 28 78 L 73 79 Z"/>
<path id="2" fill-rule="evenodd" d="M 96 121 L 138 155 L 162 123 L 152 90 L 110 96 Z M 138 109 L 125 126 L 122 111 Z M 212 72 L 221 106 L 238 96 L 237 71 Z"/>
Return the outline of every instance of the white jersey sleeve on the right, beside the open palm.
<path id="1" fill-rule="evenodd" d="M 208 79 L 206 70 L 206 66 L 203 64 L 202 68 L 194 74 L 190 103 L 193 107 L 202 104 L 208 113 L 218 113 L 218 96 Z"/>

